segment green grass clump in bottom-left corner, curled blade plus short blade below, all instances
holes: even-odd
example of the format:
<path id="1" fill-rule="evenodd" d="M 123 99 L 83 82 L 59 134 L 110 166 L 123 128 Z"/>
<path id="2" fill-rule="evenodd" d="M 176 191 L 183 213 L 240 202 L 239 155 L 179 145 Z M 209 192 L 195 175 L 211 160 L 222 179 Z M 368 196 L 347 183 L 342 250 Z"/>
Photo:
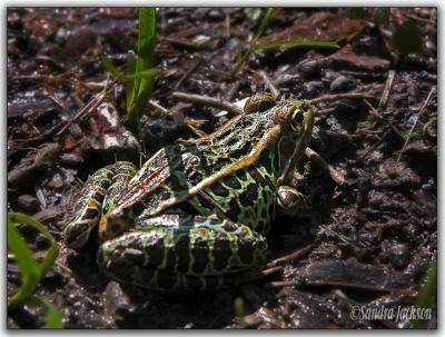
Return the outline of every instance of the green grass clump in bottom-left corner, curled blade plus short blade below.
<path id="1" fill-rule="evenodd" d="M 34 228 L 49 241 L 50 247 L 41 260 L 34 258 L 26 239 L 19 231 L 18 227 L 23 225 Z M 33 295 L 37 286 L 52 267 L 59 254 L 53 237 L 42 224 L 20 212 L 8 212 L 7 227 L 8 250 L 14 256 L 21 280 L 19 290 L 8 300 L 8 309 L 14 309 L 24 304 L 41 307 L 46 321 L 43 328 L 61 328 L 63 325 L 59 309 L 46 299 Z"/>

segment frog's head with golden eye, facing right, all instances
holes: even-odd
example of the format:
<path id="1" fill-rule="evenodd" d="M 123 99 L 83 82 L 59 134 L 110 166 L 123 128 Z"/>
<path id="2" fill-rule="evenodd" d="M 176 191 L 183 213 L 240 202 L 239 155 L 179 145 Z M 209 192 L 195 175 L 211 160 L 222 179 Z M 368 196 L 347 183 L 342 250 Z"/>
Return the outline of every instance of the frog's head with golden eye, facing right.
<path id="1" fill-rule="evenodd" d="M 281 186 L 291 179 L 295 166 L 310 141 L 314 110 L 300 100 L 275 102 L 269 95 L 256 95 L 246 101 L 245 113 L 258 111 L 273 119 L 270 142 L 276 143 L 274 155 L 279 159 L 277 186 Z"/>

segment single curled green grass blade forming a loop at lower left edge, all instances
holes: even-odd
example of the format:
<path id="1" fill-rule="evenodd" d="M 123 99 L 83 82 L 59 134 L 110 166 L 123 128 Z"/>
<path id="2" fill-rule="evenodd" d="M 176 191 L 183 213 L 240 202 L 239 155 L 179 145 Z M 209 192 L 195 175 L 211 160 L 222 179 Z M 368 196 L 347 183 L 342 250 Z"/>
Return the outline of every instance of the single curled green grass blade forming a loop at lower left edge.
<path id="1" fill-rule="evenodd" d="M 50 242 L 46 256 L 42 261 L 38 262 L 31 250 L 28 248 L 26 240 L 20 231 L 16 228 L 16 224 L 23 224 L 36 228 Z M 20 269 L 21 287 L 8 301 L 9 308 L 20 306 L 36 289 L 37 285 L 51 268 L 59 254 L 57 244 L 51 234 L 37 221 L 34 218 L 19 212 L 8 214 L 8 249 L 16 257 L 17 265 Z"/>

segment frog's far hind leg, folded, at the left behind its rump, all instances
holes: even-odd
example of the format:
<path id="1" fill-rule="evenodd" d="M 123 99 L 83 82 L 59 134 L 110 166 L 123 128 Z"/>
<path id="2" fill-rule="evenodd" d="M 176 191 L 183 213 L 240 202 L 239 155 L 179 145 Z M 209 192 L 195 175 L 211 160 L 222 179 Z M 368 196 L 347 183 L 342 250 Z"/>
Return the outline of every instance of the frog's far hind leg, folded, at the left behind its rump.
<path id="1" fill-rule="evenodd" d="M 119 200 L 136 171 L 131 162 L 118 161 L 96 171 L 87 180 L 76 202 L 73 219 L 63 231 L 68 247 L 80 248 L 87 242 L 91 230 Z"/>

